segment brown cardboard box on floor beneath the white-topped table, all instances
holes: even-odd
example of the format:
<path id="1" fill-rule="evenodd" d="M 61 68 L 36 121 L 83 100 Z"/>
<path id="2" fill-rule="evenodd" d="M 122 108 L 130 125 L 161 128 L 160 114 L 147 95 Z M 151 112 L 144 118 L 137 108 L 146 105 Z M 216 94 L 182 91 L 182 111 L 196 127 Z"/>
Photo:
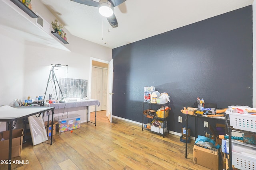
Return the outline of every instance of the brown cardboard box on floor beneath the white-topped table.
<path id="1" fill-rule="evenodd" d="M 0 160 L 6 160 L 9 157 L 9 136 L 10 131 L 4 131 L 0 135 Z M 12 158 L 20 156 L 23 142 L 23 129 L 12 130 Z"/>

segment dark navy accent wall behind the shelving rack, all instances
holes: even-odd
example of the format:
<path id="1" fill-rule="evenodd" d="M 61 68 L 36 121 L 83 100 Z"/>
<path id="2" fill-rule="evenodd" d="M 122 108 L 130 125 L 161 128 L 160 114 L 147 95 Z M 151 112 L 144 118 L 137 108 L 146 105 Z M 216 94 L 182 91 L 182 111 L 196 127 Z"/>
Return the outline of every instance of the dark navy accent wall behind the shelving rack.
<path id="1" fill-rule="evenodd" d="M 142 122 L 144 86 L 169 94 L 168 130 L 178 133 L 180 109 L 198 97 L 218 108 L 252 107 L 252 6 L 118 47 L 113 59 L 115 116 Z"/>

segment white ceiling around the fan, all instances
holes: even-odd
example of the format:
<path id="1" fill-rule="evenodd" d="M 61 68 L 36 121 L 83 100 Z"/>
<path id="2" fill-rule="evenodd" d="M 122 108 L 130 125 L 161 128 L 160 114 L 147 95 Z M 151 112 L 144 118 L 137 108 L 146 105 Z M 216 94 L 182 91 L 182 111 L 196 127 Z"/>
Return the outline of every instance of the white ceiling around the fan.
<path id="1" fill-rule="evenodd" d="M 40 1 L 72 35 L 111 49 L 253 3 L 253 0 L 126 0 L 114 7 L 118 27 L 112 28 L 97 7 L 70 0 Z"/>

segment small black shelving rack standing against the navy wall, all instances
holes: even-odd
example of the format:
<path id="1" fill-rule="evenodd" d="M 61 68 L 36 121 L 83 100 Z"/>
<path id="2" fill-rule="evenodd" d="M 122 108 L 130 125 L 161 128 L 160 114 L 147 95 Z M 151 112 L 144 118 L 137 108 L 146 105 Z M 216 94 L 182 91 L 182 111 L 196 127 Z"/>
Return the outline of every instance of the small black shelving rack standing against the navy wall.
<path id="1" fill-rule="evenodd" d="M 158 133 L 158 134 L 161 134 L 163 137 L 164 137 L 164 134 L 166 133 L 166 132 L 168 132 L 168 127 L 167 127 L 167 125 L 168 125 L 168 115 L 166 116 L 166 114 L 167 114 L 167 111 L 165 111 L 165 109 L 164 109 L 164 111 L 163 111 L 163 117 L 158 117 L 156 114 L 155 115 L 153 115 L 153 116 L 148 116 L 148 115 L 144 115 L 144 105 L 148 105 L 148 109 L 152 109 L 152 108 L 150 108 L 150 106 L 152 107 L 153 105 L 156 105 L 155 107 L 158 107 L 159 106 L 159 108 L 161 107 L 161 106 L 164 106 L 164 108 L 168 105 L 168 103 L 166 103 L 166 104 L 156 104 L 156 103 L 150 103 L 150 102 L 143 102 L 142 103 L 142 131 L 144 130 L 144 129 L 147 129 L 146 127 L 144 127 L 144 125 L 146 125 L 146 124 L 144 124 L 144 118 L 148 118 L 148 123 L 150 123 L 150 125 L 151 125 L 151 127 L 150 127 L 150 129 L 147 129 L 147 130 L 150 130 L 150 131 L 152 131 L 152 132 L 154 132 L 154 133 Z M 156 120 L 159 120 L 159 121 L 163 121 L 163 127 L 154 127 L 154 129 L 156 129 L 157 131 L 154 131 L 153 129 L 152 129 L 152 126 L 154 126 L 154 125 L 152 125 L 152 123 L 151 123 L 151 121 L 153 121 L 154 119 L 156 119 Z M 159 129 L 158 129 L 159 128 Z M 159 131 L 159 132 L 158 132 Z"/>

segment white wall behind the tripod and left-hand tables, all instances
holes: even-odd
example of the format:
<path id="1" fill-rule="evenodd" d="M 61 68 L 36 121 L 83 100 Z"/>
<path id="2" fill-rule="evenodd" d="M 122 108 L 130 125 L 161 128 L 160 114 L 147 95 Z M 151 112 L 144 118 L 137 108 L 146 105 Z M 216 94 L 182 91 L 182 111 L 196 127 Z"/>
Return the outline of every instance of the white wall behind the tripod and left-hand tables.
<path id="1" fill-rule="evenodd" d="M 45 7 L 39 8 L 42 5 L 40 1 L 35 2 L 33 11 L 38 12 L 51 23 L 55 17 Z M 44 96 L 51 64 L 68 65 L 68 67 L 54 70 L 58 80 L 60 77 L 68 76 L 68 78 L 86 79 L 90 84 L 90 57 L 104 61 L 112 59 L 112 49 L 66 32 L 69 43 L 66 47 L 70 49 L 70 52 L 24 41 L 18 35 L 0 27 L 0 71 L 2 73 L 0 106 L 11 106 L 12 101 L 16 98 L 24 101 L 27 96 L 31 96 L 33 99 L 36 96 Z M 47 96 L 49 93 L 53 93 L 51 89 L 52 85 L 49 83 Z M 48 97 L 46 99 L 48 100 Z M 83 114 L 84 112 L 77 111 L 77 113 Z M 84 121 L 84 117 L 83 115 L 81 121 Z M 4 131 L 5 128 L 6 124 L 1 122 L 0 131 Z"/>

